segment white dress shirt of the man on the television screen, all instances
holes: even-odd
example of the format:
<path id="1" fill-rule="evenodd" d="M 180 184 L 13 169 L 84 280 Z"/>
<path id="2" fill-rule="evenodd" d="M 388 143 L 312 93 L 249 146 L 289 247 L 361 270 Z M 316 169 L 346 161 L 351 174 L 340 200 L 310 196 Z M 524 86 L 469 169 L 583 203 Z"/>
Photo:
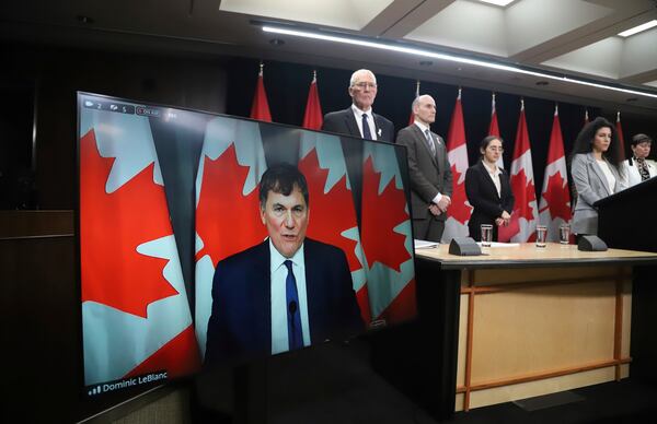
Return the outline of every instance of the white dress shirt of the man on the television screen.
<path id="1" fill-rule="evenodd" d="M 303 345 L 310 345 L 310 322 L 308 320 L 308 298 L 306 294 L 306 263 L 303 261 L 303 245 L 295 256 L 286 258 L 276 250 L 269 238 L 269 267 L 272 275 L 272 354 L 289 351 L 288 341 L 288 305 L 286 296 L 286 279 L 288 269 L 286 260 L 292 261 L 292 272 L 297 280 L 299 295 L 299 314 L 301 314 L 301 331 Z"/>

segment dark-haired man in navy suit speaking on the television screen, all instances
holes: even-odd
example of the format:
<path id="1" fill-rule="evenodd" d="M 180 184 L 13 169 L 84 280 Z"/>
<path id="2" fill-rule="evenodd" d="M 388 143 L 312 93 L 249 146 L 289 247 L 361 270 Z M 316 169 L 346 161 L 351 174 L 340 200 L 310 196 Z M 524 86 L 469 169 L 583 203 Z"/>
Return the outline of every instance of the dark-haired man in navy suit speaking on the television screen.
<path id="1" fill-rule="evenodd" d="M 299 349 L 364 328 L 344 251 L 306 238 L 308 186 L 292 165 L 260 182 L 269 237 L 217 264 L 205 363 Z M 239 236 L 239 228 L 235 228 Z"/>

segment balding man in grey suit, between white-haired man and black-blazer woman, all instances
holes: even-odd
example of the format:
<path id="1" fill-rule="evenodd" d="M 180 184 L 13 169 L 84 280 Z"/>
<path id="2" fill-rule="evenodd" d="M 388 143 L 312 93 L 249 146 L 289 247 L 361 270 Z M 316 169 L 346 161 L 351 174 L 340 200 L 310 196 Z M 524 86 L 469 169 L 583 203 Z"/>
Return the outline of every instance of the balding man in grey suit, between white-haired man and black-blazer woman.
<path id="1" fill-rule="evenodd" d="M 436 120 L 436 102 L 425 94 L 412 107 L 415 121 L 399 132 L 396 142 L 408 148 L 413 237 L 440 242 L 451 203 L 451 167 L 445 141 L 429 128 Z"/>

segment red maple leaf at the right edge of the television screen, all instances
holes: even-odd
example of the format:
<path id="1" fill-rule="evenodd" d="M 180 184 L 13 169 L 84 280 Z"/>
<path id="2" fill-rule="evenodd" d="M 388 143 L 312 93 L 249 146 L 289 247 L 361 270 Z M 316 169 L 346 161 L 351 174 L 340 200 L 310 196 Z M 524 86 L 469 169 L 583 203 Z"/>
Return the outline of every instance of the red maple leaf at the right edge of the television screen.
<path id="1" fill-rule="evenodd" d="M 362 248 L 370 268 L 378 261 L 401 272 L 401 264 L 411 259 L 411 254 L 404 246 L 406 236 L 393 228 L 408 220 L 406 197 L 404 190 L 394 187 L 394 178 L 379 195 L 380 181 L 381 174 L 368 157 L 362 169 Z"/>

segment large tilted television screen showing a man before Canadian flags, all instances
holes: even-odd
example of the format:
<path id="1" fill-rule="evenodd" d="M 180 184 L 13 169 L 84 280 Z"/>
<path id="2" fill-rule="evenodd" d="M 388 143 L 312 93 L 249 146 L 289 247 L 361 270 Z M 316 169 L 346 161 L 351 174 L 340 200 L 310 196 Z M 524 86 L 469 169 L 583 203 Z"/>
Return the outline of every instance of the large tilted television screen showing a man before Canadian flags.
<path id="1" fill-rule="evenodd" d="M 416 316 L 403 146 L 82 92 L 78 126 L 89 397 Z"/>

